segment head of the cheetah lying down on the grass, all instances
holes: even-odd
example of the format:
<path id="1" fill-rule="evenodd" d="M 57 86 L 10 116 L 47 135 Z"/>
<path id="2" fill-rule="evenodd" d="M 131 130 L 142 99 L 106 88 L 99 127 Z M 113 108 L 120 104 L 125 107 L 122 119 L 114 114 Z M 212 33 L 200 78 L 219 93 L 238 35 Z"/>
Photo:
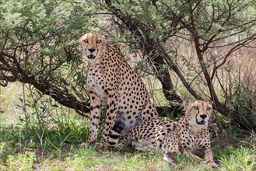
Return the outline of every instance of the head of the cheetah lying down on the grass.
<path id="1" fill-rule="evenodd" d="M 183 102 L 185 118 L 188 124 L 195 130 L 207 127 L 212 115 L 212 104 L 204 100 L 195 100 L 194 102 Z"/>

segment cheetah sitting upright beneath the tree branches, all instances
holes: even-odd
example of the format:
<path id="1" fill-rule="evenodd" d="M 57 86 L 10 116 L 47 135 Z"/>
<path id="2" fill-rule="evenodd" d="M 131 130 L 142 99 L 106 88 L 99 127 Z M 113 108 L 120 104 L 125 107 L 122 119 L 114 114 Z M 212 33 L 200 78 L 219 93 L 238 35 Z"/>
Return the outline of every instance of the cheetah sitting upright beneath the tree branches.
<path id="1" fill-rule="evenodd" d="M 119 135 L 110 130 L 116 118 L 125 120 L 122 134 L 131 127 L 157 117 L 146 86 L 114 44 L 98 33 L 86 33 L 79 38 L 79 47 L 88 61 L 87 89 L 90 98 L 90 133 L 87 143 L 96 140 L 101 103 L 107 103 L 105 126 L 100 146 L 116 146 Z M 86 143 L 82 143 L 85 145 Z"/>

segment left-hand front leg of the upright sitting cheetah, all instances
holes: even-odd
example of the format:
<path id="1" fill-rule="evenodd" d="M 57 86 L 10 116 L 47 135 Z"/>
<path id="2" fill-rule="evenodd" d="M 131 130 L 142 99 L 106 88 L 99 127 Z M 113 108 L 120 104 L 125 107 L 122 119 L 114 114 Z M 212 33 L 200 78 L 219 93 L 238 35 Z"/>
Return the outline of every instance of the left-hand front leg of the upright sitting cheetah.
<path id="1" fill-rule="evenodd" d="M 89 90 L 90 99 L 90 126 L 89 126 L 89 138 L 86 143 L 81 145 L 86 145 L 96 141 L 97 131 L 100 123 L 101 115 L 101 99 L 96 95 L 95 92 Z"/>

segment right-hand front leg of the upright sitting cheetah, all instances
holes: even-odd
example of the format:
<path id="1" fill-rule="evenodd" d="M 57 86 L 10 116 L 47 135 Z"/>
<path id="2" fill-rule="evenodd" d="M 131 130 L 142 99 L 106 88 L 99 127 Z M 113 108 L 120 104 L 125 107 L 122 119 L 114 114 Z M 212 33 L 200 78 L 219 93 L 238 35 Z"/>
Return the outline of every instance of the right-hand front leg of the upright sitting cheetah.
<path id="1" fill-rule="evenodd" d="M 106 120 L 103 129 L 103 136 L 100 141 L 100 146 L 102 148 L 107 148 L 109 145 L 109 135 L 112 125 L 114 124 L 114 119 L 116 117 L 116 110 L 117 110 L 117 96 L 113 95 L 113 98 L 107 99 L 107 113 L 106 113 Z"/>

